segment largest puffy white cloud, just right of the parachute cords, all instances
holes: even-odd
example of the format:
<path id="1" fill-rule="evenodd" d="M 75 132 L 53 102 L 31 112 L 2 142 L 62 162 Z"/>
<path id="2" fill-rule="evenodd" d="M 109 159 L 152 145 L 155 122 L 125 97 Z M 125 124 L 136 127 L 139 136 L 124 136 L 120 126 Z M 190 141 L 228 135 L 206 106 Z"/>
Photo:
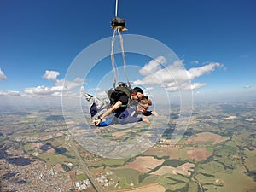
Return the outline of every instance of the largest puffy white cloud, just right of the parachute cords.
<path id="1" fill-rule="evenodd" d="M 146 71 L 148 73 L 141 73 L 144 76 L 143 79 L 137 79 L 134 81 L 134 84 L 155 84 L 169 91 L 196 90 L 207 84 L 191 84 L 191 81 L 204 74 L 212 73 L 218 67 L 223 67 L 223 65 L 218 62 L 211 62 L 203 67 L 194 67 L 186 70 L 183 67 L 183 61 L 174 61 L 167 67 L 160 68 L 160 63 L 153 60 L 149 61 L 149 63 L 141 69 L 141 72 Z M 148 70 L 150 68 L 153 69 L 152 72 Z"/>

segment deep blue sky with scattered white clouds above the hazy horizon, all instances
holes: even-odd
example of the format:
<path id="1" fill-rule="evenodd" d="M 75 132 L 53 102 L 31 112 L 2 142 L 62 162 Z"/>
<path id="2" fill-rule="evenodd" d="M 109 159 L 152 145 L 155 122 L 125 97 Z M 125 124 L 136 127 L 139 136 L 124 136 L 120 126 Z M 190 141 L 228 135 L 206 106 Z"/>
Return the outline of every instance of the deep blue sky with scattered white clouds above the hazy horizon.
<path id="1" fill-rule="evenodd" d="M 256 95 L 254 0 L 119 0 L 118 5 L 118 16 L 125 18 L 128 28 L 122 32 L 124 47 L 134 43 L 125 42 L 129 40 L 125 35 L 141 35 L 165 44 L 180 60 L 127 53 L 127 64 L 137 66 L 129 69 L 133 85 L 148 91 L 193 90 L 195 96 Z M 108 50 L 109 56 L 90 68 L 85 78 L 66 77 L 84 49 L 112 37 L 114 15 L 114 0 L 1 0 L 2 102 L 7 97 L 60 97 L 63 90 L 81 84 L 90 92 L 103 83 L 112 86 Z M 154 81 L 157 78 L 164 82 Z"/>

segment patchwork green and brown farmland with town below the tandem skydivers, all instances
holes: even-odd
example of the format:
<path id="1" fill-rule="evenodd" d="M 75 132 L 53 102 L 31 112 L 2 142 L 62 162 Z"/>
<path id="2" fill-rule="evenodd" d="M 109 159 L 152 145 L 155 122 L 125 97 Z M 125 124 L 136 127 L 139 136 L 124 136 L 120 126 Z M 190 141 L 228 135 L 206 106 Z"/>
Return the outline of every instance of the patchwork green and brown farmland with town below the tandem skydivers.
<path id="1" fill-rule="evenodd" d="M 253 192 L 256 104 L 243 104 L 234 112 L 231 109 L 236 105 L 196 106 L 188 129 L 176 144 L 171 140 L 175 108 L 172 114 L 159 112 L 159 119 L 170 119 L 162 137 L 142 153 L 124 159 L 90 153 L 73 139 L 55 110 L 5 112 L 0 116 L 2 189 L 30 191 L 32 184 L 34 191 L 44 191 L 65 183 L 69 191 L 74 190 L 73 183 L 90 178 L 108 192 Z M 156 120 L 156 126 L 161 129 L 163 122 Z M 95 132 L 109 141 L 134 141 L 146 128 L 139 123 L 134 128 Z M 14 177 L 19 182 L 15 183 Z M 89 186 L 84 191 L 96 191 Z"/>

